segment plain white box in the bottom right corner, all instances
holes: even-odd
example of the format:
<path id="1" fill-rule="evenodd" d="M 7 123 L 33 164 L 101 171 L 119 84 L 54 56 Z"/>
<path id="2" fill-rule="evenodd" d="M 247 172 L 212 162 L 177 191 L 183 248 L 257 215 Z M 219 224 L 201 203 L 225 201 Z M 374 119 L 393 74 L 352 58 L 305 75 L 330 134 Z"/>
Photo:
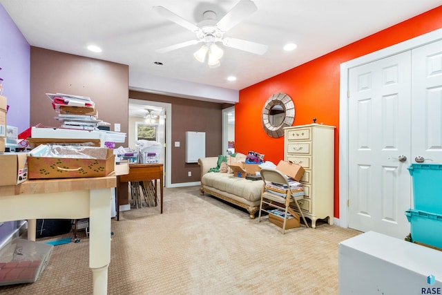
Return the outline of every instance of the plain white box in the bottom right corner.
<path id="1" fill-rule="evenodd" d="M 340 295 L 442 293 L 442 251 L 374 231 L 340 242 L 338 249 Z"/>

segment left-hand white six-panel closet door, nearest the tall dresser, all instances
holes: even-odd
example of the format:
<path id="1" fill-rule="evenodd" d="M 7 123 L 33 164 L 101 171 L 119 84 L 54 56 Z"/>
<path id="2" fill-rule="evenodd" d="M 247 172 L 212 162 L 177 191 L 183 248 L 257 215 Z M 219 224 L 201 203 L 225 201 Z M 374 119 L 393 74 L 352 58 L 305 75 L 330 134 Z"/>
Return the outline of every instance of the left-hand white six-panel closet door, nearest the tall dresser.
<path id="1" fill-rule="evenodd" d="M 404 214 L 411 193 L 410 64 L 411 53 L 405 52 L 349 70 L 349 227 L 353 229 L 397 238 L 410 233 Z"/>

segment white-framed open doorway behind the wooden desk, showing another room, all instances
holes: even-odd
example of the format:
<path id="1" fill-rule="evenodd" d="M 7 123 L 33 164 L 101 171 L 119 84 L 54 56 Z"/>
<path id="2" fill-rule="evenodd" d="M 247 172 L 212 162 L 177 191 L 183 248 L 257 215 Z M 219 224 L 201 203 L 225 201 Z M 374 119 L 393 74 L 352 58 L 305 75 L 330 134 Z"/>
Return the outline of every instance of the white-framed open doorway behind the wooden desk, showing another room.
<path id="1" fill-rule="evenodd" d="M 164 185 L 171 186 L 171 120 L 172 105 L 142 99 L 129 99 L 128 146 L 134 148 L 140 126 L 155 129 L 155 141 L 160 142 L 159 162 L 164 164 Z M 150 113 L 150 116 L 149 116 Z M 146 120 L 149 120 L 146 122 Z"/>

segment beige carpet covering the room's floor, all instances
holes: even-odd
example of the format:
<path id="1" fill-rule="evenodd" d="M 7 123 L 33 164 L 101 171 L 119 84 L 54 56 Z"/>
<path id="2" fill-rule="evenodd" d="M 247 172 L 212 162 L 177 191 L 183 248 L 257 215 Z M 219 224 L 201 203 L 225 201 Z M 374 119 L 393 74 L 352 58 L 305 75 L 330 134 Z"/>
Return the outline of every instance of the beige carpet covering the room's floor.
<path id="1" fill-rule="evenodd" d="M 198 189 L 165 189 L 163 214 L 144 207 L 112 221 L 108 294 L 338 294 L 338 242 L 358 231 L 318 222 L 283 235 Z M 37 282 L 0 294 L 92 294 L 80 238 L 55 246 Z"/>

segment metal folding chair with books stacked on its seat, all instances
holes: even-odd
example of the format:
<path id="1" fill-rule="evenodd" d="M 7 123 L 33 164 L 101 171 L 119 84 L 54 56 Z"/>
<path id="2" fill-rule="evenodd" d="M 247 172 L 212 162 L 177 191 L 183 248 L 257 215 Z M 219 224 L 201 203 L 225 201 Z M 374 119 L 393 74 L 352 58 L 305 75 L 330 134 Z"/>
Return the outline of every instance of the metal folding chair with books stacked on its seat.
<path id="1" fill-rule="evenodd" d="M 261 221 L 261 212 L 265 211 L 269 213 L 268 209 L 263 208 L 263 204 L 267 205 L 268 207 L 282 209 L 285 211 L 284 215 L 284 222 L 282 224 L 282 234 L 285 233 L 285 225 L 287 222 L 287 213 L 291 213 L 292 215 L 296 215 L 294 209 L 290 207 L 290 204 L 294 203 L 296 205 L 296 208 L 298 209 L 298 212 L 300 216 L 302 217 L 302 220 L 305 223 L 306 227 L 309 227 L 307 224 L 307 221 L 305 220 L 304 214 L 302 213 L 302 210 L 299 207 L 298 200 L 302 200 L 304 196 L 294 196 L 293 193 L 291 193 L 291 189 L 287 189 L 287 194 L 285 196 L 280 196 L 276 193 L 273 193 L 269 191 L 266 188 L 266 184 L 269 184 L 270 182 L 274 182 L 277 184 L 285 185 L 287 188 L 289 188 L 289 181 L 287 180 L 287 176 L 281 173 L 280 171 L 276 169 L 261 169 L 260 170 L 262 180 L 264 180 L 264 184 L 262 185 L 262 193 L 261 193 L 261 202 L 260 202 L 260 213 L 258 214 L 258 222 Z M 266 206 L 266 207 L 267 207 Z M 269 213 L 271 214 L 271 213 Z"/>

